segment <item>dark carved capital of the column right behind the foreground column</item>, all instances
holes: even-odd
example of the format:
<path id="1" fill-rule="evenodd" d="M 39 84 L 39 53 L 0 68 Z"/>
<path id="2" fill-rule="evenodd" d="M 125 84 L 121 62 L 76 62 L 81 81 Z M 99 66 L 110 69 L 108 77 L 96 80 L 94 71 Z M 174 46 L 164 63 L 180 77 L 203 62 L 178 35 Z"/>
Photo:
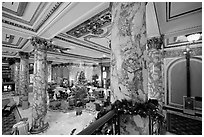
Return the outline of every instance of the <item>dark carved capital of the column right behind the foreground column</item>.
<path id="1" fill-rule="evenodd" d="M 163 44 L 163 35 L 160 37 L 152 37 L 147 40 L 148 50 L 150 49 L 161 49 Z"/>

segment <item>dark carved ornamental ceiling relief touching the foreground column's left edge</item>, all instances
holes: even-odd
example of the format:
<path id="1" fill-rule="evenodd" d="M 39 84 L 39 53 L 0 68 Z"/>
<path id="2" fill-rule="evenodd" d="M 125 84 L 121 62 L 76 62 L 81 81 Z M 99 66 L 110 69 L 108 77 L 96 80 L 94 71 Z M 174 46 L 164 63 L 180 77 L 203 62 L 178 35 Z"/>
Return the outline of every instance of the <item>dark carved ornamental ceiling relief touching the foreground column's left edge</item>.
<path id="1" fill-rule="evenodd" d="M 84 36 L 88 33 L 100 35 L 103 33 L 103 29 L 101 28 L 109 25 L 110 23 L 111 10 L 110 8 L 107 8 L 66 33 L 76 38 Z"/>

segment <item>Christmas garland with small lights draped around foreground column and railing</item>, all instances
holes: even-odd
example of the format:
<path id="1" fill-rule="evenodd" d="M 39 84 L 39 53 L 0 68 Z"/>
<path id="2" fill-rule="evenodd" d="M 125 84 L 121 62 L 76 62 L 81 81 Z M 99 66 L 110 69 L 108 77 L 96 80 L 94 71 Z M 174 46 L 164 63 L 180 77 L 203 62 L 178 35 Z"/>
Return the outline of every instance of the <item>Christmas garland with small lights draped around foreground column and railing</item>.
<path id="1" fill-rule="evenodd" d="M 92 129 L 94 130 L 93 134 L 95 135 L 120 134 L 119 130 L 120 124 L 118 123 L 120 119 L 118 119 L 119 118 L 118 116 L 121 114 L 140 115 L 143 118 L 147 118 L 149 116 L 151 121 L 157 122 L 162 125 L 164 123 L 164 116 L 159 113 L 158 106 L 159 106 L 158 101 L 152 99 L 148 100 L 145 103 L 133 103 L 132 101 L 128 100 L 122 101 L 117 100 L 111 106 L 103 107 L 97 114 L 95 120 L 99 120 L 111 110 L 114 110 L 116 113 L 114 117 L 110 118 L 103 126 L 100 126 L 95 130 Z M 153 126 L 151 125 L 151 127 Z M 152 133 L 150 132 L 150 134 Z"/>

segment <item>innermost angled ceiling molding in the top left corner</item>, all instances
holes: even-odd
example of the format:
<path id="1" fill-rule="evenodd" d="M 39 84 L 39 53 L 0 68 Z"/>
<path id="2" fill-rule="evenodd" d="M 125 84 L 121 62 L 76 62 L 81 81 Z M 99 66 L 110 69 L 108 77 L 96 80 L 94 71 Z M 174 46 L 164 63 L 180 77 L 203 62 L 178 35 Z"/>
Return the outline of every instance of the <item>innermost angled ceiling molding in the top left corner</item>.
<path id="1" fill-rule="evenodd" d="M 5 11 L 5 12 L 8 12 L 10 14 L 14 14 L 16 16 L 21 17 L 24 14 L 24 11 L 25 11 L 25 9 L 27 7 L 27 4 L 28 4 L 28 2 L 19 2 L 19 6 L 18 6 L 18 9 L 17 9 L 17 12 L 14 12 L 14 11 L 4 7 L 4 6 L 2 6 L 2 11 Z"/>

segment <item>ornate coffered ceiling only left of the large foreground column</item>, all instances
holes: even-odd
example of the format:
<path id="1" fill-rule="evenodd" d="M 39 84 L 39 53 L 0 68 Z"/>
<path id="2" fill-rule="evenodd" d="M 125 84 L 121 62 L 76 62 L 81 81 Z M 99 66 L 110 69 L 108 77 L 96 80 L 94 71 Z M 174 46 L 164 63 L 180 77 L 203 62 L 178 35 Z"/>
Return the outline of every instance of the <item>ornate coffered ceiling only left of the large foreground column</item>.
<path id="1" fill-rule="evenodd" d="M 66 18 L 69 19 L 64 22 Z M 108 35 L 102 40 L 97 37 L 106 32 L 104 29 L 110 26 L 110 21 L 109 3 L 3 2 L 2 56 L 18 57 L 19 51 L 32 52 L 29 39 L 37 35 L 66 49 L 48 51 L 48 60 L 54 63 L 101 62 L 104 56 L 110 57 L 109 40 Z M 65 28 L 73 22 L 72 28 Z M 57 30 L 47 33 L 52 29 Z M 90 34 L 97 40 L 85 40 Z M 33 56 L 30 58 L 32 60 Z"/>

